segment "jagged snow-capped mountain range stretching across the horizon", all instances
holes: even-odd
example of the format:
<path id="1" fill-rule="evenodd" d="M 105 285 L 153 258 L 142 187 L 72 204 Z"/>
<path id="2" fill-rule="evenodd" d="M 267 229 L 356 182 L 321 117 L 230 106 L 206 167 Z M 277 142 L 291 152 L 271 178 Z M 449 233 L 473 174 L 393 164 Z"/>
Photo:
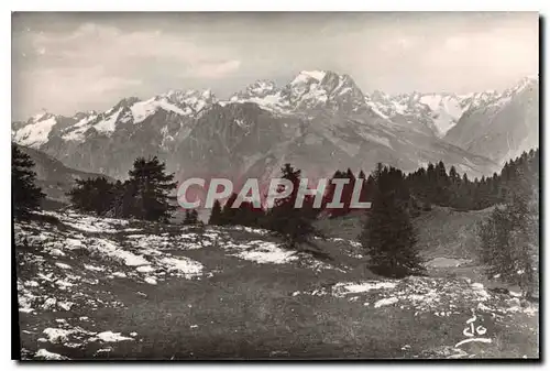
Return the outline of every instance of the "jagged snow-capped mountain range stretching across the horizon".
<path id="1" fill-rule="evenodd" d="M 179 178 L 268 178 L 285 162 L 310 177 L 370 172 L 377 162 L 413 171 L 440 160 L 480 177 L 538 146 L 538 77 L 502 92 L 366 95 L 349 75 L 304 70 L 282 87 L 257 80 L 226 100 L 170 90 L 105 112 L 41 112 L 13 122 L 12 141 L 116 178 L 151 155 Z"/>

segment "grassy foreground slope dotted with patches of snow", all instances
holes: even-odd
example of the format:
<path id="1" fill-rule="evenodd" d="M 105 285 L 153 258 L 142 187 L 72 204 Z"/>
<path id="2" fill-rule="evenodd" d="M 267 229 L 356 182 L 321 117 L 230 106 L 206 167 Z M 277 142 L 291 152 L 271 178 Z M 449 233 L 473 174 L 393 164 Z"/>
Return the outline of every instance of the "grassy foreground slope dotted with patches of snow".
<path id="1" fill-rule="evenodd" d="M 253 250 L 250 247 L 253 240 L 276 242 L 254 231 L 183 230 L 177 226 L 131 222 L 123 227 L 112 225 L 116 232 L 107 233 L 75 229 L 75 223 L 66 220 L 21 225 L 16 238 L 26 236 L 26 243 L 18 249 L 18 283 L 37 283 L 24 286 L 25 293 L 34 295 L 23 295 L 31 297 L 30 307 L 34 310 L 20 312 L 23 354 L 33 358 L 38 349 L 47 349 L 78 359 L 538 357 L 538 315 L 519 309 L 508 296 L 491 294 L 488 299 L 480 301 L 463 280 L 405 280 L 395 283 L 395 290 L 332 295 L 339 282 L 380 280 L 365 270 L 364 259 L 356 258 L 361 251 L 348 241 L 353 238 L 351 230 L 356 222 L 353 219 L 350 217 L 340 221 L 339 228 L 331 228 L 332 232 L 348 233 L 342 234 L 346 239 L 334 239 L 332 234 L 332 239 L 319 241 L 333 258 L 327 262 L 332 269 L 315 269 L 311 259 L 308 263 L 258 264 L 234 257 L 241 250 L 227 249 L 232 244 Z M 442 220 L 429 216 L 421 220 L 435 222 L 435 219 Z M 44 227 L 51 232 L 45 240 L 29 238 L 37 236 Z M 141 231 L 127 231 L 128 228 Z M 129 237 L 135 233 L 162 240 L 144 244 L 154 245 L 154 253 L 202 263 L 204 274 L 184 279 L 165 266 L 154 265 L 158 282 L 152 285 L 144 281 L 151 273 L 136 273 L 134 266 L 95 249 L 97 240 L 108 239 L 150 261 L 155 259 L 133 242 L 140 238 Z M 218 237 L 211 239 L 211 233 Z M 191 242 L 180 239 L 183 234 L 194 236 L 195 242 L 202 245 L 193 248 Z M 85 247 L 68 249 L 70 239 L 82 241 Z M 52 247 L 65 255 L 53 254 Z M 70 269 L 55 264 L 59 262 Z M 85 264 L 103 271 L 87 270 Z M 113 272 L 123 272 L 127 277 L 112 277 Z M 74 285 L 61 290 L 58 280 Z M 437 299 L 429 299 L 433 293 L 438 293 Z M 413 295 L 419 295 L 420 301 L 415 302 Z M 44 306 L 52 297 L 75 304 L 69 310 Z M 373 305 L 388 297 L 398 297 L 399 302 Z M 470 343 L 459 350 L 453 346 L 464 338 L 462 331 L 472 308 L 493 343 Z M 46 328 L 79 327 L 90 334 L 80 331 L 63 341 L 48 341 L 43 334 Z M 138 335 L 133 340 L 120 342 L 94 339 L 91 332 L 106 330 L 131 338 L 131 332 Z"/>

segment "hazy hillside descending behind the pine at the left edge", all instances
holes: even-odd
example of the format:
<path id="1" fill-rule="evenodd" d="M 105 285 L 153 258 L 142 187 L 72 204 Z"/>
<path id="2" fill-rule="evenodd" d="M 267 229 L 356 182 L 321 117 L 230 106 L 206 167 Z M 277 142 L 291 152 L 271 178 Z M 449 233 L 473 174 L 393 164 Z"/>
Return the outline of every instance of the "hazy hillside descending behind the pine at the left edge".
<path id="1" fill-rule="evenodd" d="M 67 167 L 61 161 L 41 151 L 23 145 L 19 145 L 19 149 L 31 156 L 35 164 L 33 171 L 36 173 L 37 185 L 51 200 L 66 203 L 68 198 L 65 194 L 75 185 L 76 179 L 100 176 L 100 174 Z M 112 181 L 110 177 L 107 178 Z"/>

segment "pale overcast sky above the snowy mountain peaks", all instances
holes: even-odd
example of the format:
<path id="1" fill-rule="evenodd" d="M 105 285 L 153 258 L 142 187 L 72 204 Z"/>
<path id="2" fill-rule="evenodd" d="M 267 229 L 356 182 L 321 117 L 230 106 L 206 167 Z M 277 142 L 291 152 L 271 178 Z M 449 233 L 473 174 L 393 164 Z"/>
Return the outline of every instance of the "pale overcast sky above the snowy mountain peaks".
<path id="1" fill-rule="evenodd" d="M 15 13 L 12 28 L 14 119 L 168 89 L 227 98 L 302 69 L 364 92 L 501 90 L 539 58 L 537 13 Z"/>

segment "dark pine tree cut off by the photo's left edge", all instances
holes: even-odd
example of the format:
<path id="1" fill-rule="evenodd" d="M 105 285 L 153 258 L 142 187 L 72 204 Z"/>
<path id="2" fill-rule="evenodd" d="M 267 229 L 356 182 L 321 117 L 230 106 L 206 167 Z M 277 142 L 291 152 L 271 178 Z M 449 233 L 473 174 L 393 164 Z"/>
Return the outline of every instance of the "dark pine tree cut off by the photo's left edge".
<path id="1" fill-rule="evenodd" d="M 16 145 L 11 146 L 11 189 L 12 207 L 15 218 L 26 218 L 30 211 L 40 207 L 45 197 L 41 188 L 35 185 L 36 173 L 33 172 L 34 162 L 21 152 Z"/>

